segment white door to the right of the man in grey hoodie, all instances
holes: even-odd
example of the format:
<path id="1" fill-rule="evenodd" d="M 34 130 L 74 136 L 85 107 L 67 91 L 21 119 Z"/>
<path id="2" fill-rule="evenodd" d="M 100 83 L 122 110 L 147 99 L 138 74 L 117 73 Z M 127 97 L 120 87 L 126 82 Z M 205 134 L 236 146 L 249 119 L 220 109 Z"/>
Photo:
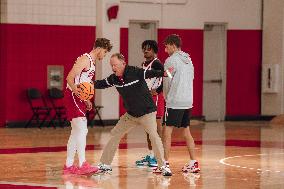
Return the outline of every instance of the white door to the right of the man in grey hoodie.
<path id="1" fill-rule="evenodd" d="M 203 115 L 206 121 L 222 121 L 226 108 L 225 24 L 204 25 Z"/>

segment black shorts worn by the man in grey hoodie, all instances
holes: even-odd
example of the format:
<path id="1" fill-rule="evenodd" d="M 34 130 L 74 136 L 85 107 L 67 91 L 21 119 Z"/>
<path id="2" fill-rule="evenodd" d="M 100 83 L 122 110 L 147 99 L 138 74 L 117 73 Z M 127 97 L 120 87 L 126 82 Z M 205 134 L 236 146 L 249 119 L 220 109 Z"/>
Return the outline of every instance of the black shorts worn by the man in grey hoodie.
<path id="1" fill-rule="evenodd" d="M 172 109 L 167 108 L 164 116 L 166 126 L 183 127 L 190 125 L 191 109 Z"/>

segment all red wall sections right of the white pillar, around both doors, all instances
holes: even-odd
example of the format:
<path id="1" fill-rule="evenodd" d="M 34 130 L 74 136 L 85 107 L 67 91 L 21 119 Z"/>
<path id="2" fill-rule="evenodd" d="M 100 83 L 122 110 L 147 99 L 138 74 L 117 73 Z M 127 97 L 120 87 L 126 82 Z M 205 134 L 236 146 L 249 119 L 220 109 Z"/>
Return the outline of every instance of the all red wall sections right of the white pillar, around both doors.
<path id="1" fill-rule="evenodd" d="M 159 29 L 158 57 L 162 62 L 167 58 L 163 40 L 172 33 L 181 36 L 182 49 L 192 58 L 195 69 L 193 115 L 202 116 L 203 30 Z M 260 115 L 261 46 L 260 30 L 228 31 L 226 92 L 226 115 L 228 116 Z M 127 58 L 128 28 L 121 29 L 120 49 Z M 121 105 L 120 113 L 123 112 L 125 110 Z"/>

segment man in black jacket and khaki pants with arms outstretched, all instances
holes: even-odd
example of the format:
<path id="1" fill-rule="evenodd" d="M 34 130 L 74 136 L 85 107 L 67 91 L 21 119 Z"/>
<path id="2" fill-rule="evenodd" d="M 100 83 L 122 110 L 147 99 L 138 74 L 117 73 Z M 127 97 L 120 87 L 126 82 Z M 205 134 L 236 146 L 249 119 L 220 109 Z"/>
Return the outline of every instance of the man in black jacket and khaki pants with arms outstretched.
<path id="1" fill-rule="evenodd" d="M 158 167 L 155 173 L 162 173 L 164 176 L 171 176 L 171 170 L 165 164 L 164 148 L 157 133 L 156 106 L 149 92 L 145 79 L 163 77 L 163 71 L 144 70 L 125 63 L 122 54 L 116 53 L 111 56 L 110 64 L 113 74 L 104 80 L 94 82 L 96 89 L 104 89 L 115 86 L 122 96 L 126 113 L 122 115 L 111 130 L 111 138 L 104 148 L 100 159 L 99 168 L 101 171 L 111 171 L 111 162 L 118 148 L 121 138 L 136 126 L 142 126 L 149 134 L 155 157 L 158 160 Z"/>

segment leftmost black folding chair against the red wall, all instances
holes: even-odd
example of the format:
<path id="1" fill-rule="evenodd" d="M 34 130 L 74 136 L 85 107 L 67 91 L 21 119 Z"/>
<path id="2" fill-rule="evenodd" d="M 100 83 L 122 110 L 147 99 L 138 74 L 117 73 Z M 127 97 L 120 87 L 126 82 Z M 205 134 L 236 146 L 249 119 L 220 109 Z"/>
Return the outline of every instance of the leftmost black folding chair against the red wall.
<path id="1" fill-rule="evenodd" d="M 33 112 L 32 117 L 26 124 L 26 128 L 35 121 L 37 126 L 41 128 L 50 115 L 51 108 L 47 106 L 46 101 L 41 92 L 36 88 L 27 89 L 27 97 Z"/>

